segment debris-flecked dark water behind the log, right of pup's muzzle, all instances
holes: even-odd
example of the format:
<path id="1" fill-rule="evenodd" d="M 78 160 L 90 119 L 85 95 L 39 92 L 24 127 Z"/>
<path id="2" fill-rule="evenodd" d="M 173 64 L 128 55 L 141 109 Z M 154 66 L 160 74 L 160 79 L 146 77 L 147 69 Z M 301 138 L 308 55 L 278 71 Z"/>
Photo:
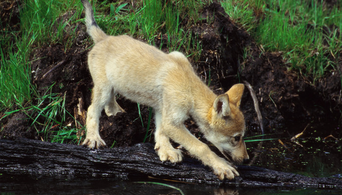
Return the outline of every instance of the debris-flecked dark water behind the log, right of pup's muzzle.
<path id="1" fill-rule="evenodd" d="M 311 177 L 329 177 L 342 173 L 340 129 L 309 126 L 295 141 L 291 137 L 302 132 L 302 129 L 291 131 L 265 136 L 264 139 L 276 139 L 263 141 L 261 147 L 258 147 L 259 141 L 247 142 L 247 152 L 254 159 L 252 165 Z"/>

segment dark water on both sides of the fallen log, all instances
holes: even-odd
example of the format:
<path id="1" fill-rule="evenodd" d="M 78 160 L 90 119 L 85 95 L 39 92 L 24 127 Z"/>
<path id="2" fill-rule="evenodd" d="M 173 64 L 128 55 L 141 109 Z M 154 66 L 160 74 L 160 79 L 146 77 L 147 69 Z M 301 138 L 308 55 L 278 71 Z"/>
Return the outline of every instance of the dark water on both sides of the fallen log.
<path id="1" fill-rule="evenodd" d="M 270 141 L 246 143 L 250 156 L 258 152 L 254 166 L 315 177 L 342 179 L 342 133 L 338 128 L 321 131 L 308 128 L 297 143 L 290 138 L 299 130 L 284 130 L 265 138 Z M 328 137 L 329 135 L 333 137 Z M 281 140 L 281 142 L 279 141 Z M 144 181 L 144 180 L 143 180 Z M 146 180 L 145 180 L 146 181 Z M 0 175 L 0 195 L 342 195 L 341 190 L 222 188 L 204 184 L 188 184 L 163 180 L 147 183 L 114 179 L 58 179 L 51 177 Z M 158 183 L 150 183 L 158 182 Z"/>

